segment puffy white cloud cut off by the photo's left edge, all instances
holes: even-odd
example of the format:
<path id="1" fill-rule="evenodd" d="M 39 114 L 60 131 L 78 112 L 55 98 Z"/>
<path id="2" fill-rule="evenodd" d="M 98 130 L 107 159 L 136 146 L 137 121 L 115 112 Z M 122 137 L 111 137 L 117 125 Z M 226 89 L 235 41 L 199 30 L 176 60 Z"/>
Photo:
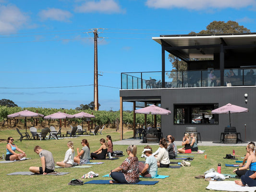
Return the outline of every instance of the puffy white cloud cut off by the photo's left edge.
<path id="1" fill-rule="evenodd" d="M 0 32 L 10 33 L 24 27 L 29 17 L 15 5 L 0 5 Z"/>

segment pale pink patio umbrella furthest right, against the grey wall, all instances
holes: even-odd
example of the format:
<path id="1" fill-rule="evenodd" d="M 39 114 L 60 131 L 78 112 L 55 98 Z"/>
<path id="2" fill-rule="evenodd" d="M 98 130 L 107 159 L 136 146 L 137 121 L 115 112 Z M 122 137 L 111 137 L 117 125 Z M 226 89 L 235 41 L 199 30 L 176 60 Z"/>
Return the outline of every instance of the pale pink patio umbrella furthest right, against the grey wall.
<path id="1" fill-rule="evenodd" d="M 232 105 L 228 103 L 220 108 L 216 108 L 211 111 L 212 114 L 229 114 L 229 124 L 231 126 L 230 114 L 231 113 L 246 113 L 248 112 L 248 108 L 239 107 L 236 105 Z"/>

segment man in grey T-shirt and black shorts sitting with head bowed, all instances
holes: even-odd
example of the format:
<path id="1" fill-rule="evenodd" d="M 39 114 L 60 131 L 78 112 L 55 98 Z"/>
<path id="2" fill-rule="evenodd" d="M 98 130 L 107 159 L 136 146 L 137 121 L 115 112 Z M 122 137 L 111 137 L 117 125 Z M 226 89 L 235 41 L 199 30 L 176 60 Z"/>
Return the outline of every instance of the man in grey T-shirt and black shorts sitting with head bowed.
<path id="1" fill-rule="evenodd" d="M 40 158 L 42 167 L 30 167 L 29 170 L 33 173 L 46 175 L 54 171 L 54 159 L 52 153 L 42 149 L 40 146 L 35 146 L 34 152 L 36 152 Z"/>

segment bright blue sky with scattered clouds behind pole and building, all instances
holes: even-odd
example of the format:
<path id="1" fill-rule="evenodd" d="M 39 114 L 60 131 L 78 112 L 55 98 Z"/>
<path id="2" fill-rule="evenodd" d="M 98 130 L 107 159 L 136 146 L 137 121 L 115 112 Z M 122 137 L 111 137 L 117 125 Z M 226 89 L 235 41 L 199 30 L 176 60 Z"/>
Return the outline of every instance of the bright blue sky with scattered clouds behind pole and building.
<path id="1" fill-rule="evenodd" d="M 153 36 L 199 32 L 215 20 L 256 32 L 256 0 L 0 0 L 0 99 L 42 108 L 93 101 L 91 32 L 102 28 L 99 109 L 119 110 L 121 72 L 161 70 Z"/>

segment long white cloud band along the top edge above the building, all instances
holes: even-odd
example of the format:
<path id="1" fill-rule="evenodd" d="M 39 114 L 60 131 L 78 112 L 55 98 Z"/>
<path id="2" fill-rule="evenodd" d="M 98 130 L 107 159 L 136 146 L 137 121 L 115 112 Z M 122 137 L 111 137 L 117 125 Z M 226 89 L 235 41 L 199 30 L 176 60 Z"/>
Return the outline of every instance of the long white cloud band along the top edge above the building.
<path id="1" fill-rule="evenodd" d="M 225 8 L 243 8 L 256 6 L 255 0 L 147 0 L 146 5 L 152 8 L 184 8 L 189 10 L 204 9 L 225 9 Z"/>

